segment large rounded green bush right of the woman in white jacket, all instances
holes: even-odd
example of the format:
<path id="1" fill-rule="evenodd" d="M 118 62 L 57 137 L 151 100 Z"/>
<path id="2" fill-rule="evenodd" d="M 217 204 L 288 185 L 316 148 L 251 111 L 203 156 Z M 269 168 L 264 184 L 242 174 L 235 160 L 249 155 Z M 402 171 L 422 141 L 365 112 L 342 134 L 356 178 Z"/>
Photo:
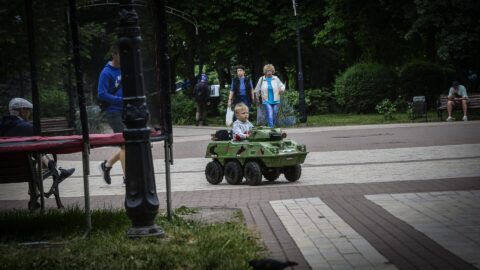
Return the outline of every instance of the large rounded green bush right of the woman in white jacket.
<path id="1" fill-rule="evenodd" d="M 395 97 L 397 75 L 377 63 L 359 63 L 340 74 L 334 86 L 336 101 L 347 112 L 373 112 L 385 98 Z"/>

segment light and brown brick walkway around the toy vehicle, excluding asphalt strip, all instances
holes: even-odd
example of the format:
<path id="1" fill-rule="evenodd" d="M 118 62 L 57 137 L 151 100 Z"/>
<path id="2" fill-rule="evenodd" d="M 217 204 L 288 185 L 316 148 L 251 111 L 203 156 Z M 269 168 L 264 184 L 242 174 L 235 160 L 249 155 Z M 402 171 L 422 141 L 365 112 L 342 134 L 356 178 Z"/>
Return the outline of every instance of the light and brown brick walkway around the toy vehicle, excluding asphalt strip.
<path id="1" fill-rule="evenodd" d="M 208 140 L 212 130 L 183 128 L 175 140 Z M 480 268 L 480 139 L 457 145 L 312 152 L 298 182 L 282 176 L 257 187 L 210 185 L 204 176 L 207 162 L 200 157 L 175 160 L 173 206 L 242 209 L 271 257 L 297 261 L 295 269 Z M 106 185 L 98 163 L 90 164 L 92 207 L 123 207 L 120 169 L 114 167 L 113 183 Z M 164 160 L 157 158 L 154 164 L 165 208 Z M 82 206 L 81 162 L 62 160 L 62 166 L 77 169 L 61 185 L 64 204 Z M 25 208 L 25 190 L 24 183 L 2 185 L 0 209 Z M 53 200 L 47 203 L 54 206 Z"/>

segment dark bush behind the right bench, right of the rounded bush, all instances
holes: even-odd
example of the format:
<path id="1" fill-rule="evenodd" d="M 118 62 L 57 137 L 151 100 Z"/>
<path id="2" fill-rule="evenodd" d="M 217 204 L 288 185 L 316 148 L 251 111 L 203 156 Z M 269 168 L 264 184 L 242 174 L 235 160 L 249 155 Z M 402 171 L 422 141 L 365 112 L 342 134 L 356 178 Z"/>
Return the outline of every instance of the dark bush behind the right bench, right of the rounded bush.
<path id="1" fill-rule="evenodd" d="M 400 70 L 399 92 L 407 100 L 412 100 L 413 96 L 425 96 L 431 108 L 440 94 L 447 93 L 453 74 L 452 69 L 434 63 L 412 61 Z"/>

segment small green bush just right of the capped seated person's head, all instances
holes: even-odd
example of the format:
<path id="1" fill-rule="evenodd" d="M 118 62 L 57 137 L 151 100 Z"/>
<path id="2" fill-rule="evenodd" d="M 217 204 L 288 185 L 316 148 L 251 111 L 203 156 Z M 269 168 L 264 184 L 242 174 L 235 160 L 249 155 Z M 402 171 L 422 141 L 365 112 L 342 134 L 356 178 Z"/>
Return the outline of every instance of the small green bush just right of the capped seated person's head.
<path id="1" fill-rule="evenodd" d="M 45 89 L 40 91 L 40 115 L 54 117 L 68 115 L 68 96 L 65 91 Z"/>

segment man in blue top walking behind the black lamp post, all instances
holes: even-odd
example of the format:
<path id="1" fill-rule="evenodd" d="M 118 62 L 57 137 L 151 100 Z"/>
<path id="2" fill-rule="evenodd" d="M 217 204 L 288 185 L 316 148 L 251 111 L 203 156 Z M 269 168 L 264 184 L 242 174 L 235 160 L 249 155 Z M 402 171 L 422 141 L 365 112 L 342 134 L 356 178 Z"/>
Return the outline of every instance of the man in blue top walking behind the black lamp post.
<path id="1" fill-rule="evenodd" d="M 120 54 L 117 45 L 111 48 L 112 61 L 109 61 L 98 79 L 98 99 L 105 104 L 105 117 L 113 132 L 123 132 L 123 88 L 122 72 L 120 69 Z M 125 174 L 125 148 L 122 146 L 110 159 L 104 160 L 100 164 L 103 179 L 107 184 L 111 184 L 110 170 L 112 166 L 120 160 Z M 124 179 L 125 184 L 125 179 Z"/>

